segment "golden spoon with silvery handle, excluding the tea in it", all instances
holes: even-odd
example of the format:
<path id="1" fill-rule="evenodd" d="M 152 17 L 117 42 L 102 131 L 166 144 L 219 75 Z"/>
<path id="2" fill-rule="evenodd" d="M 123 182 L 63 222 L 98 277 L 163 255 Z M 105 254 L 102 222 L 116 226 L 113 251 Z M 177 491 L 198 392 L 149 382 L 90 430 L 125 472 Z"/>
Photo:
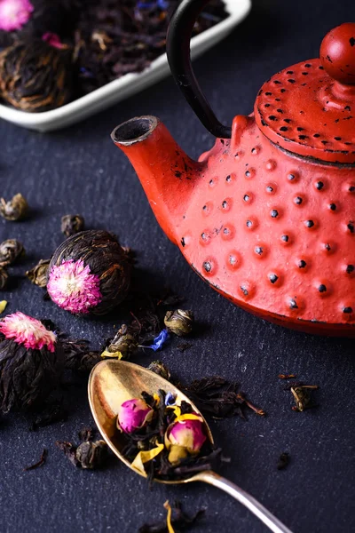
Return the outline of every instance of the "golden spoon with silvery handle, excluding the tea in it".
<path id="1" fill-rule="evenodd" d="M 122 440 L 122 435 L 116 429 L 116 419 L 123 402 L 132 398 L 139 398 L 142 391 L 154 394 L 159 389 L 164 390 L 166 393 L 175 394 L 177 404 L 180 404 L 182 400 L 189 402 L 193 410 L 201 415 L 201 412 L 193 405 L 191 400 L 185 394 L 182 394 L 176 386 L 173 386 L 166 379 L 154 374 L 154 372 L 146 370 L 132 362 L 113 360 L 99 362 L 91 371 L 89 378 L 89 402 L 93 418 L 99 427 L 100 433 L 114 454 L 125 465 L 140 475 L 143 475 L 143 473 L 133 468 L 130 461 L 122 456 L 121 450 L 125 443 Z M 206 433 L 209 441 L 213 444 L 213 437 L 209 426 L 204 418 L 203 420 L 206 425 Z M 225 490 L 225 492 L 233 496 L 242 505 L 245 505 L 251 513 L 254 513 L 274 533 L 291 533 L 290 529 L 284 526 L 272 513 L 267 511 L 263 505 L 259 504 L 254 497 L 215 472 L 205 471 L 196 473 L 184 480 L 162 481 L 154 478 L 154 481 L 165 484 L 204 481 L 218 489 Z"/>

